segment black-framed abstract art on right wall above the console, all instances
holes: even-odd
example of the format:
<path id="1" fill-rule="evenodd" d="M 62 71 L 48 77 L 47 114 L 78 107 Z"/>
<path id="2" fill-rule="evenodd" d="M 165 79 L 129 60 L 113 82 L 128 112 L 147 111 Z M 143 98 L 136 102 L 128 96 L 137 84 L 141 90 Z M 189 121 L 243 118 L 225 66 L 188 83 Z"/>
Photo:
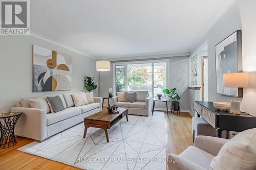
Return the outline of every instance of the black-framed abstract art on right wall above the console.
<path id="1" fill-rule="evenodd" d="M 234 89 L 224 87 L 222 75 L 242 72 L 242 33 L 238 30 L 215 45 L 217 93 L 234 96 Z M 243 88 L 237 88 L 237 97 L 243 96 Z"/>

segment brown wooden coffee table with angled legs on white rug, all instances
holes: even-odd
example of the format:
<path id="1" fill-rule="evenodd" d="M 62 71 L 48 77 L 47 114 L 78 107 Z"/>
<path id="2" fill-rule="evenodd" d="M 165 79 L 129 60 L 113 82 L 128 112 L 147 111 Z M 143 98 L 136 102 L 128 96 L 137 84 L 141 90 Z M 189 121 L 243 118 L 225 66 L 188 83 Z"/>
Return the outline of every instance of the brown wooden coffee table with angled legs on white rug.
<path id="1" fill-rule="evenodd" d="M 95 113 L 91 116 L 84 118 L 84 133 L 83 138 L 86 137 L 87 128 L 100 128 L 104 129 L 106 135 L 106 141 L 109 142 L 108 130 L 113 125 L 115 125 L 119 120 L 121 120 L 124 116 L 126 116 L 126 120 L 128 121 L 128 108 L 118 108 L 118 114 L 109 114 L 108 110 L 102 110 L 98 113 Z"/>

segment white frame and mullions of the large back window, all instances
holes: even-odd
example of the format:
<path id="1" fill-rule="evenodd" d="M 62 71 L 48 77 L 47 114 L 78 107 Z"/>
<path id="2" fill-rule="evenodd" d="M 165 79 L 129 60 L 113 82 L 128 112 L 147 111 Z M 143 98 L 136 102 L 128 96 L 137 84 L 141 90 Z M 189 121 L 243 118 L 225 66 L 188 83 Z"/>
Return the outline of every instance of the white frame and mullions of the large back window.
<path id="1" fill-rule="evenodd" d="M 169 72 L 169 60 L 149 60 L 149 61 L 127 61 L 127 62 L 114 62 L 113 63 L 113 95 L 116 95 L 116 66 L 117 65 L 124 65 L 124 77 L 127 79 L 127 64 L 152 64 L 152 99 L 154 98 L 154 63 L 162 63 L 166 62 L 166 88 L 170 88 L 170 72 Z M 125 87 L 127 87 L 127 80 L 125 80 Z M 126 89 L 125 89 L 126 90 Z"/>

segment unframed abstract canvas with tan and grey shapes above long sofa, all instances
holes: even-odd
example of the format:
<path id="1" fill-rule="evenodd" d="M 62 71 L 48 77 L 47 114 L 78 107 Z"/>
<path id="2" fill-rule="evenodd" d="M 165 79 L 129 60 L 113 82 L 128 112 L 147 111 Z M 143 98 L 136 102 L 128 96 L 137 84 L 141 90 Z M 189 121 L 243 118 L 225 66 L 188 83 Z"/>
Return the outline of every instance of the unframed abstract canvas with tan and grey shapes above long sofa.
<path id="1" fill-rule="evenodd" d="M 33 92 L 71 90 L 72 57 L 33 45 Z"/>

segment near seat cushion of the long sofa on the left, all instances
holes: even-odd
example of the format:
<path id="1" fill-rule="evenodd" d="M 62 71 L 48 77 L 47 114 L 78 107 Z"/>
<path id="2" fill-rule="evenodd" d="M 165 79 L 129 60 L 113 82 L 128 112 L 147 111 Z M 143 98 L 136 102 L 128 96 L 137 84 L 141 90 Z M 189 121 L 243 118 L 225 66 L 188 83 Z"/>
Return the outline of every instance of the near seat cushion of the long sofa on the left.
<path id="1" fill-rule="evenodd" d="M 82 113 L 82 110 L 77 107 L 70 107 L 57 113 L 49 113 L 46 115 L 47 126 L 60 122 L 70 117 L 77 116 Z"/>

